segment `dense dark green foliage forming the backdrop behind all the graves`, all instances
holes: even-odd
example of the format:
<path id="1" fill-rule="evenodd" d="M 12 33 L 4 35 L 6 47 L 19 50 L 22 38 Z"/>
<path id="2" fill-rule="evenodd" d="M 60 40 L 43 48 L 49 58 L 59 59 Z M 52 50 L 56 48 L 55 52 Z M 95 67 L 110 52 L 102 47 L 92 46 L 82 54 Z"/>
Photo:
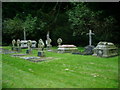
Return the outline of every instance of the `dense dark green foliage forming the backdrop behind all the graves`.
<path id="1" fill-rule="evenodd" d="M 113 6 L 113 7 L 111 7 Z M 3 45 L 12 39 L 46 40 L 50 31 L 52 45 L 61 37 L 64 44 L 88 45 L 91 29 L 93 44 L 99 41 L 119 43 L 118 3 L 24 2 L 3 3 Z"/>

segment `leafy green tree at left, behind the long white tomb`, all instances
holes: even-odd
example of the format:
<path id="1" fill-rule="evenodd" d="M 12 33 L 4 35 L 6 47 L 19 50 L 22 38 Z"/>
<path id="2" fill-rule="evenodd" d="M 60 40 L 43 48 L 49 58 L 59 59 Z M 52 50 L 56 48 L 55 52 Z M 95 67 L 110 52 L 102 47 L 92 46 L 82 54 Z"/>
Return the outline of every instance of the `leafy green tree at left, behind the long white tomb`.
<path id="1" fill-rule="evenodd" d="M 3 40 L 23 39 L 23 30 L 25 29 L 28 34 L 31 34 L 35 29 L 36 20 L 37 17 L 32 17 L 30 14 L 26 16 L 25 20 L 20 19 L 18 14 L 13 19 L 4 20 L 3 36 L 8 36 L 3 37 Z"/>

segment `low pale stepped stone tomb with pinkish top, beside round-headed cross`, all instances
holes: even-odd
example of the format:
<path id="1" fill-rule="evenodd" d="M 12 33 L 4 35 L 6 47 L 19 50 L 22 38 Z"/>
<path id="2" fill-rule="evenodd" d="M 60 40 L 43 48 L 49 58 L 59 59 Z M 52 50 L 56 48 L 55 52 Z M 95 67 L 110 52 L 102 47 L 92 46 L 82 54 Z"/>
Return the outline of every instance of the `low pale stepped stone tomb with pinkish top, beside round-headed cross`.
<path id="1" fill-rule="evenodd" d="M 74 53 L 78 52 L 78 49 L 75 45 L 61 45 L 58 48 L 58 53 Z"/>

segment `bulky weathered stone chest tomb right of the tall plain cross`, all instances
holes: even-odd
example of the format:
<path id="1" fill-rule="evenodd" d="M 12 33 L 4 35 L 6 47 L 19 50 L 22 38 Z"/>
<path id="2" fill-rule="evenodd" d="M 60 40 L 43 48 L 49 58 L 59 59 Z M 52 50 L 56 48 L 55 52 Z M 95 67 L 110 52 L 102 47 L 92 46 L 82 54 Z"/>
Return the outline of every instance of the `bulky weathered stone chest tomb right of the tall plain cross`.
<path id="1" fill-rule="evenodd" d="M 117 47 L 111 42 L 99 42 L 94 48 L 93 56 L 112 57 L 117 55 Z"/>

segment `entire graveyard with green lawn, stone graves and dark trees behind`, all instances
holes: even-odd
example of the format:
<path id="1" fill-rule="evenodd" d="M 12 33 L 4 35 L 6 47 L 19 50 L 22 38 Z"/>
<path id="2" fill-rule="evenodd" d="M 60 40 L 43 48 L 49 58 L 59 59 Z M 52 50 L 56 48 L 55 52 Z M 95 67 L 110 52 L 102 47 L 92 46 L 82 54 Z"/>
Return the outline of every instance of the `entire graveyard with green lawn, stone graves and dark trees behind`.
<path id="1" fill-rule="evenodd" d="M 3 3 L 2 88 L 118 88 L 117 13 L 92 4 Z"/>

